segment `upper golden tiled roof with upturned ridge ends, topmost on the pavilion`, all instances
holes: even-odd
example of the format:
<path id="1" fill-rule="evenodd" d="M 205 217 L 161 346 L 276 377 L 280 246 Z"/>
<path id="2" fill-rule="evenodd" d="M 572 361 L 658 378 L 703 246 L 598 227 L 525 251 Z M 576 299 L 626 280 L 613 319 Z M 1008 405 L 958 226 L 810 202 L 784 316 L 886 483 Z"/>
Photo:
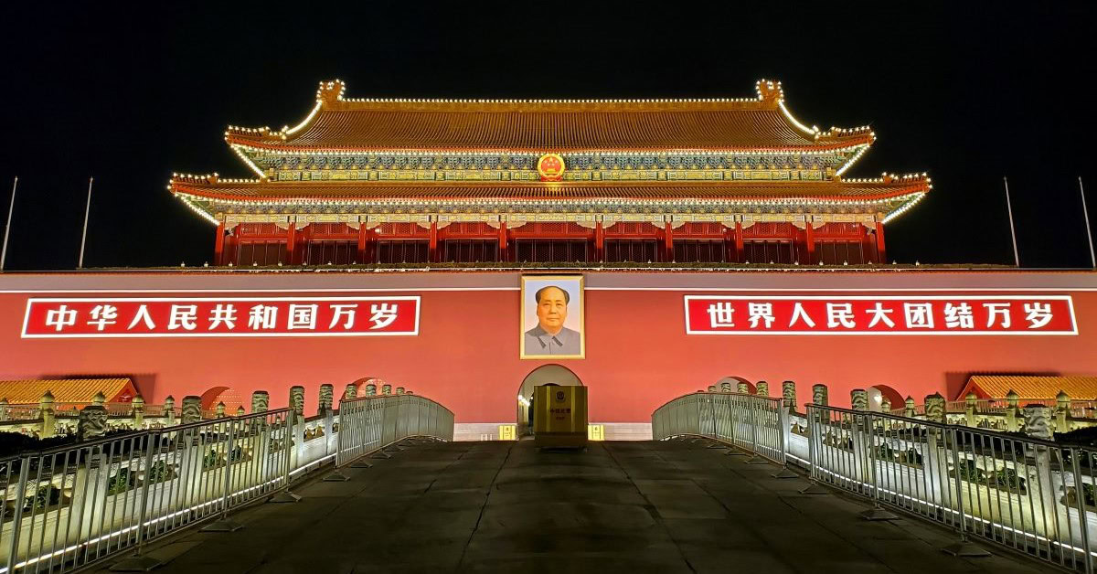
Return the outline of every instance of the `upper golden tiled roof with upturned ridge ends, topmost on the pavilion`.
<path id="1" fill-rule="evenodd" d="M 799 123 L 779 85 L 756 99 L 348 100 L 321 82 L 313 112 L 282 131 L 229 127 L 229 144 L 274 150 L 819 150 L 871 144 L 868 127 Z"/>

